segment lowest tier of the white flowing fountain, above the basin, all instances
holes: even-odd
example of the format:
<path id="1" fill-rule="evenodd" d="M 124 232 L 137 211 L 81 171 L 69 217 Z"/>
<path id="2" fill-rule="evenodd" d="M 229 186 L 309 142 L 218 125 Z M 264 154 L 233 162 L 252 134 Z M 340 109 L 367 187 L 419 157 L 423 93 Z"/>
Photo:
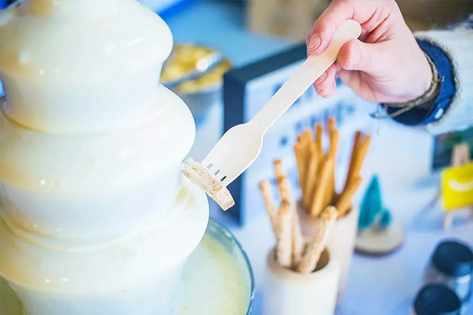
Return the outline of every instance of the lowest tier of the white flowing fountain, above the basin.
<path id="1" fill-rule="evenodd" d="M 182 268 L 208 211 L 205 193 L 186 180 L 166 220 L 114 243 L 54 250 L 0 221 L 0 274 L 28 315 L 169 315 L 181 306 Z"/>

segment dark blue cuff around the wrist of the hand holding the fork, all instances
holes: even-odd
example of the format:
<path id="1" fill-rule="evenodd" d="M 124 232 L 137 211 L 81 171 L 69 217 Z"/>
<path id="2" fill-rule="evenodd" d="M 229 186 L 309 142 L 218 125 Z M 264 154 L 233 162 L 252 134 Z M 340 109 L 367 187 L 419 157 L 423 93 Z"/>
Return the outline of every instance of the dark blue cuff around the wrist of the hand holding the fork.
<path id="1" fill-rule="evenodd" d="M 424 125 L 440 119 L 455 94 L 452 64 L 448 56 L 442 49 L 428 42 L 417 40 L 417 43 L 432 59 L 442 81 L 440 82 L 438 95 L 429 108 L 414 107 L 393 118 L 397 122 L 410 126 Z M 399 107 L 387 106 L 386 110 L 388 114 L 392 114 L 399 110 Z"/>

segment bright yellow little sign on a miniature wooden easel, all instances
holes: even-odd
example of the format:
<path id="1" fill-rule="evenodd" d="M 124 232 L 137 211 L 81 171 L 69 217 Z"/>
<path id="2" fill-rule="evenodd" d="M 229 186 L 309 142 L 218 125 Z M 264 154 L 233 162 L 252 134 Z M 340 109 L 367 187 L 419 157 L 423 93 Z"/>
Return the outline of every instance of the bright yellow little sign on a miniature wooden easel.
<path id="1" fill-rule="evenodd" d="M 443 170 L 441 189 L 445 211 L 473 205 L 473 162 Z"/>

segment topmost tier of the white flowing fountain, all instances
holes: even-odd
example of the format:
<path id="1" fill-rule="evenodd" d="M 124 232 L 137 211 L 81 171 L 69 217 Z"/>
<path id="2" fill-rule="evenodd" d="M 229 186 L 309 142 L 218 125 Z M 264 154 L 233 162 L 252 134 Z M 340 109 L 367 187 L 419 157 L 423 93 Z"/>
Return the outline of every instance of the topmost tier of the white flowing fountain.
<path id="1" fill-rule="evenodd" d="M 47 132 L 139 124 L 172 49 L 166 23 L 135 0 L 26 0 L 0 17 L 0 73 L 17 122 Z"/>

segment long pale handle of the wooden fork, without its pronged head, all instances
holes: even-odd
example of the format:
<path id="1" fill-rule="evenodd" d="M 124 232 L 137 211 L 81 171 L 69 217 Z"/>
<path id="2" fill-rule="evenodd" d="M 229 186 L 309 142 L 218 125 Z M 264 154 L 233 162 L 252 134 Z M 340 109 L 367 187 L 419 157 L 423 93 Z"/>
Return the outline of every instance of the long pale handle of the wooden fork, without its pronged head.
<path id="1" fill-rule="evenodd" d="M 310 55 L 289 79 L 251 119 L 263 133 L 309 88 L 315 80 L 335 62 L 340 48 L 347 41 L 361 34 L 360 24 L 352 19 L 345 20 L 335 31 L 327 49 L 320 55 Z"/>

